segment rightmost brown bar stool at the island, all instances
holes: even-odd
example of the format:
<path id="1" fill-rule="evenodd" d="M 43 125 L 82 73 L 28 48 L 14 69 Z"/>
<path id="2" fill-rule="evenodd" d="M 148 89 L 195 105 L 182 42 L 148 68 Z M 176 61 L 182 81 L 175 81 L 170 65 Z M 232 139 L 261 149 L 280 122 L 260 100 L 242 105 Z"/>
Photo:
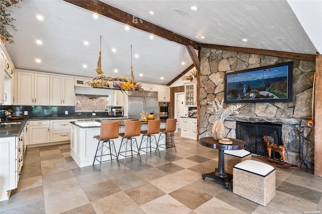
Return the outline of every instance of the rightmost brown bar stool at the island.
<path id="1" fill-rule="evenodd" d="M 177 119 L 167 119 L 166 129 L 160 129 L 160 135 L 157 141 L 157 147 L 160 147 L 160 144 L 159 144 L 160 140 L 165 139 L 165 144 L 161 144 L 161 146 L 165 145 L 164 147 L 165 155 L 166 155 L 168 146 L 169 148 L 175 147 L 175 151 L 177 152 L 175 141 L 173 140 L 173 135 L 172 135 L 172 133 L 175 132 L 176 129 L 177 129 Z M 169 139 L 169 136 L 170 136 L 170 139 Z M 171 145 L 169 144 L 169 142 L 171 142 Z"/>

